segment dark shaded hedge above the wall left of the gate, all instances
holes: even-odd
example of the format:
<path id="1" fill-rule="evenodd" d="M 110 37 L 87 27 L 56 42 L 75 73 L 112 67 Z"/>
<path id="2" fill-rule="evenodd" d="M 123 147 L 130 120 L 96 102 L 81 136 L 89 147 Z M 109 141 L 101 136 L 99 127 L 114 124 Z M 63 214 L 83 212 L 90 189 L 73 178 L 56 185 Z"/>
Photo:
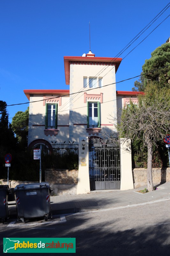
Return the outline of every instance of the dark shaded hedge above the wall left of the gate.
<path id="1" fill-rule="evenodd" d="M 40 161 L 33 159 L 33 150 L 11 151 L 12 161 L 9 169 L 9 180 L 40 180 Z M 4 156 L 0 157 L 0 179 L 7 179 L 7 167 L 5 167 Z M 41 156 L 42 181 L 45 180 L 45 169 L 78 169 L 78 155 L 73 152 L 67 154 L 50 154 Z"/>

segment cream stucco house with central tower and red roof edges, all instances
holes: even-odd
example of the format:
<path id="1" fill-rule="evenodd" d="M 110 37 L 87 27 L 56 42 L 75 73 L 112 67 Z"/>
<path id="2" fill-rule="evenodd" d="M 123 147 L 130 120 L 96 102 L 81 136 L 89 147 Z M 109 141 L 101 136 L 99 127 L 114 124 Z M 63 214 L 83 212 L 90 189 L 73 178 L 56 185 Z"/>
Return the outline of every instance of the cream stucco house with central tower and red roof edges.
<path id="1" fill-rule="evenodd" d="M 28 146 L 54 139 L 78 142 L 79 137 L 114 133 L 116 116 L 137 92 L 116 91 L 115 74 L 121 58 L 64 57 L 65 81 L 70 90 L 24 90 L 29 104 Z M 42 142 L 43 143 L 43 142 Z"/>

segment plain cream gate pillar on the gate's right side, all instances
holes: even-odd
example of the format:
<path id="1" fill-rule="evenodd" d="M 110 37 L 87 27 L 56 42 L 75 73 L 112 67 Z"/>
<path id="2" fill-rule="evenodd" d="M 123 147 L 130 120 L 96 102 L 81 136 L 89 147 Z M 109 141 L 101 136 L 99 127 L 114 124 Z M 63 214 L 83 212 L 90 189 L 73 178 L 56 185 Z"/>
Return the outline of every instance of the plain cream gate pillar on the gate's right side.
<path id="1" fill-rule="evenodd" d="M 120 154 L 121 154 L 121 190 L 132 189 L 132 156 L 131 156 L 131 140 L 120 139 Z"/>

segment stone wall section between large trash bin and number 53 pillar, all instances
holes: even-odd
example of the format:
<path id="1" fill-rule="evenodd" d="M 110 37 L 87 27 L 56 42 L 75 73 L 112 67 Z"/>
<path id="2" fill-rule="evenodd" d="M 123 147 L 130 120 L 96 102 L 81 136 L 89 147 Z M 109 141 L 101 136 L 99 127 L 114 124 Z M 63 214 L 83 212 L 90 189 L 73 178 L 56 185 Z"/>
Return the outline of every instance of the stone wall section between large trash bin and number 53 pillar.
<path id="1" fill-rule="evenodd" d="M 51 195 L 77 194 L 78 170 L 46 169 L 45 182 L 49 182 L 53 192 Z"/>

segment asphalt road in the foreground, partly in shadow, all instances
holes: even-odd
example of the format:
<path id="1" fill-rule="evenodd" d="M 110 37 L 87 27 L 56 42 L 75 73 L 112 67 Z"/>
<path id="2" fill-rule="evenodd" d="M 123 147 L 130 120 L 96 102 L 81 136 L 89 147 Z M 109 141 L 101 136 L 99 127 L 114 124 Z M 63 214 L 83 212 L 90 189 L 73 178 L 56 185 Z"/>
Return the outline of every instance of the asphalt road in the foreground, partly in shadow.
<path id="1" fill-rule="evenodd" d="M 81 256 L 169 256 L 169 206 L 170 200 L 162 200 L 114 210 L 59 215 L 47 222 L 24 224 L 13 220 L 0 224 L 0 251 L 3 237 L 76 237 L 76 254 Z M 40 255 L 43 254 L 47 256 Z"/>

